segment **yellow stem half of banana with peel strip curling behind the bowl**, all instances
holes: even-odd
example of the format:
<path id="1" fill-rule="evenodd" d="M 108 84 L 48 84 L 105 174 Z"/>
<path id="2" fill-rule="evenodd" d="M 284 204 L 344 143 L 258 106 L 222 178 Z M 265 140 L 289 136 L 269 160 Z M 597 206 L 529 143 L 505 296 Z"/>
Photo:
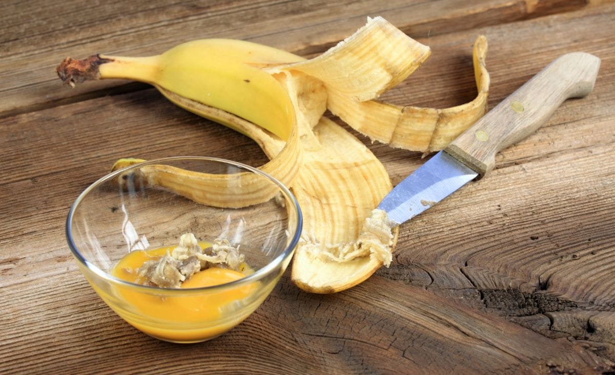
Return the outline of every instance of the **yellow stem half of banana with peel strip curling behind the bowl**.
<path id="1" fill-rule="evenodd" d="M 290 186 L 302 160 L 293 105 L 284 87 L 253 64 L 300 60 L 291 53 L 264 45 L 232 39 L 205 39 L 180 44 L 151 57 L 66 58 L 57 72 L 70 85 L 113 78 L 152 84 L 176 105 L 250 136 L 271 159 L 261 170 Z M 143 160 L 118 160 L 113 170 L 140 161 Z M 142 169 L 140 173 L 148 181 L 178 189 L 189 199 L 218 207 L 245 207 L 276 194 L 274 188 L 266 188 L 264 181 L 250 173 L 222 177 L 186 172 L 175 178 L 173 173 L 153 167 Z M 163 174 L 166 177 L 160 178 Z M 182 184 L 186 188 L 180 189 Z M 245 194 L 241 197 L 232 194 L 233 186 L 244 186 Z M 206 191 L 213 194 L 205 194 Z"/>

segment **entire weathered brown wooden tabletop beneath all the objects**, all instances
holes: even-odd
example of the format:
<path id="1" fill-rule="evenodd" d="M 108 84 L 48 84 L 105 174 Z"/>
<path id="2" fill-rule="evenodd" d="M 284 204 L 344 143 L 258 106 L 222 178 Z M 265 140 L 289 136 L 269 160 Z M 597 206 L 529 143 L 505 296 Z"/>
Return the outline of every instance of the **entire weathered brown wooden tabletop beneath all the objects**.
<path id="1" fill-rule="evenodd" d="M 308 294 L 287 272 L 255 314 L 201 344 L 157 341 L 117 317 L 66 245 L 77 195 L 119 157 L 266 158 L 148 85 L 69 90 L 55 66 L 216 37 L 311 57 L 368 15 L 432 49 L 383 98 L 400 105 L 472 100 L 478 34 L 489 41 L 490 108 L 566 52 L 594 53 L 600 74 L 589 97 L 501 152 L 491 175 L 404 224 L 392 266 L 361 285 Z M 0 373 L 613 373 L 614 20 L 604 0 L 4 2 Z M 394 184 L 425 160 L 352 132 Z"/>

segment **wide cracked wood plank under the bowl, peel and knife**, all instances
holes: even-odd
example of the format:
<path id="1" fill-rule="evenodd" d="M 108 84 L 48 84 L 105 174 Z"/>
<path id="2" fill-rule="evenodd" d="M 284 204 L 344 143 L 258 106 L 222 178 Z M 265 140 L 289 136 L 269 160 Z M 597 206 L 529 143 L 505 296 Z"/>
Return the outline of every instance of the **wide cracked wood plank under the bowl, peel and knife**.
<path id="1" fill-rule="evenodd" d="M 471 99 L 478 33 L 490 40 L 491 105 L 561 53 L 592 52 L 603 66 L 590 97 L 567 101 L 490 176 L 405 224 L 391 269 L 333 296 L 283 278 L 255 315 L 205 344 L 156 341 L 111 312 L 76 270 L 65 216 L 118 157 L 259 165 L 262 152 L 153 89 L 1 119 L 0 372 L 614 371 L 614 17 L 607 5 L 424 39 L 432 57 L 387 100 Z M 359 137 L 394 183 L 423 162 Z"/>

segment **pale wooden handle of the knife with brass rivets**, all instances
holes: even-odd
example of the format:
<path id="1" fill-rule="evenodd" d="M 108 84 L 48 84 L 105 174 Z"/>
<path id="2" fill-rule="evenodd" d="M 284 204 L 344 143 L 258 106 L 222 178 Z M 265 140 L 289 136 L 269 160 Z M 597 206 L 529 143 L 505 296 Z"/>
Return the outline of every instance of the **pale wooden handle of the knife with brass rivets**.
<path id="1" fill-rule="evenodd" d="M 499 151 L 536 132 L 563 101 L 592 92 L 599 68 L 600 58 L 589 53 L 556 58 L 444 151 L 484 176 L 494 167 Z"/>

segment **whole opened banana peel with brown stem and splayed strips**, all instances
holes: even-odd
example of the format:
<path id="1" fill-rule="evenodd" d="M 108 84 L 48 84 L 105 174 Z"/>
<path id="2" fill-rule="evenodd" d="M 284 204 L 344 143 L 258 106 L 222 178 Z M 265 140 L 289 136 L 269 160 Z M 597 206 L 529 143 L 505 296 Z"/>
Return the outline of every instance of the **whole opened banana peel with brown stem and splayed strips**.
<path id="1" fill-rule="evenodd" d="M 311 60 L 251 42 L 204 39 L 152 57 L 66 58 L 57 72 L 70 85 L 107 78 L 147 82 L 176 105 L 250 136 L 270 160 L 260 169 L 290 186 L 303 212 L 293 282 L 305 291 L 335 293 L 389 265 L 398 228 L 375 210 L 392 189 L 383 165 L 323 114 L 330 109 L 371 140 L 394 147 L 442 149 L 486 111 L 486 38 L 479 36 L 474 44 L 475 100 L 447 109 L 376 100 L 429 54 L 429 47 L 375 17 Z M 113 168 L 141 161 L 121 159 Z M 217 207 L 242 207 L 273 196 L 242 173 L 220 177 L 156 167 L 140 173 L 148 183 Z M 242 197 L 219 189 L 235 183 L 253 189 Z M 202 194 L 216 186 L 220 194 Z"/>

